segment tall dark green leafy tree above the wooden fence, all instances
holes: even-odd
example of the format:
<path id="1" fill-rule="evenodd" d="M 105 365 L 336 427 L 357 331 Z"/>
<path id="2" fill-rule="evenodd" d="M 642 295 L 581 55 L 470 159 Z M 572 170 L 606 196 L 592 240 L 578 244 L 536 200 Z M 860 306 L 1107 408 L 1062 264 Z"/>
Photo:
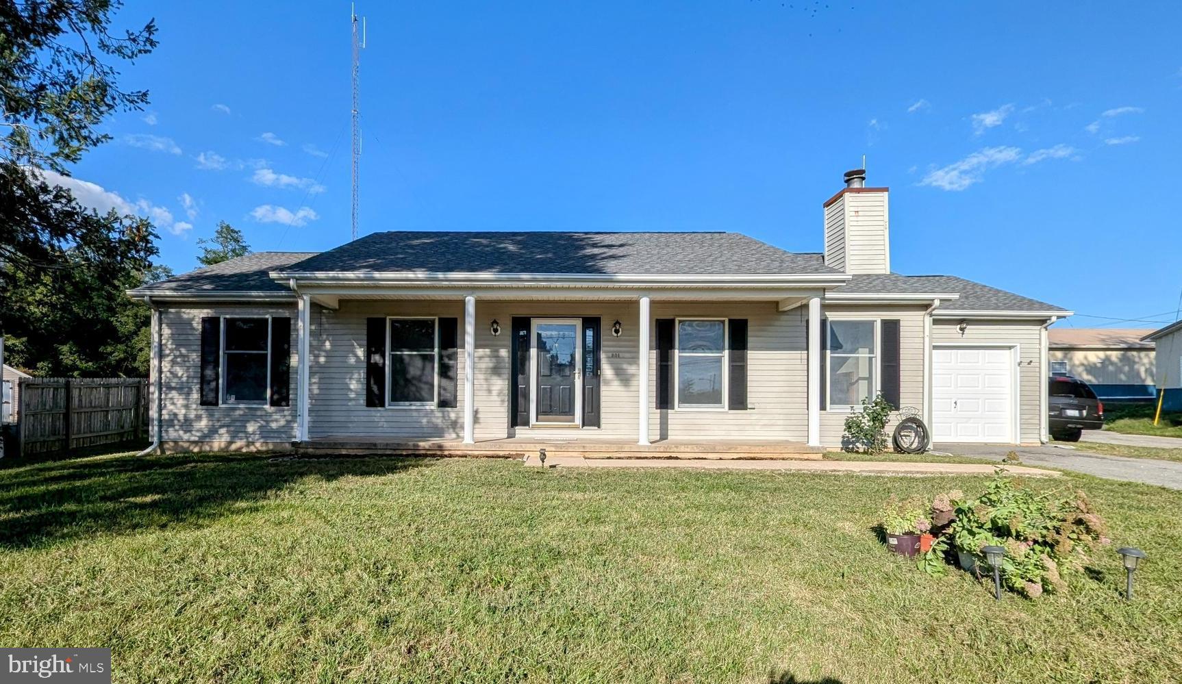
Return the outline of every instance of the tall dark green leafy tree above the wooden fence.
<path id="1" fill-rule="evenodd" d="M 147 372 L 147 307 L 123 291 L 152 273 L 151 223 L 85 209 L 43 172 L 69 174 L 110 139 L 104 119 L 148 102 L 109 63 L 151 52 L 156 26 L 112 30 L 121 6 L 0 0 L 0 330 L 8 359 L 45 374 Z"/>

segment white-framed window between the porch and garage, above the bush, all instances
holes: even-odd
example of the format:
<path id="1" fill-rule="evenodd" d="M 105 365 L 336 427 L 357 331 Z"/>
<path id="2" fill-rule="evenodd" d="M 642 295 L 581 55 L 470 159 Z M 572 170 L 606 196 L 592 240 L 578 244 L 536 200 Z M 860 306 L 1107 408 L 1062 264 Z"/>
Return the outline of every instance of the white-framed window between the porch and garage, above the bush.
<path id="1" fill-rule="evenodd" d="M 878 390 L 878 321 L 829 321 L 830 409 L 862 405 Z"/>

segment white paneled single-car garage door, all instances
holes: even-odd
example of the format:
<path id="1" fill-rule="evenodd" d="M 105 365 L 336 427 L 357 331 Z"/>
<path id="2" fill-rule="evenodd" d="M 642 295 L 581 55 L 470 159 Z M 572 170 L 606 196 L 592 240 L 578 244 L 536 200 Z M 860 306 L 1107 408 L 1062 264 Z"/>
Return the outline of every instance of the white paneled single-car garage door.
<path id="1" fill-rule="evenodd" d="M 1013 443 L 1013 370 L 1008 348 L 933 348 L 931 441 Z"/>

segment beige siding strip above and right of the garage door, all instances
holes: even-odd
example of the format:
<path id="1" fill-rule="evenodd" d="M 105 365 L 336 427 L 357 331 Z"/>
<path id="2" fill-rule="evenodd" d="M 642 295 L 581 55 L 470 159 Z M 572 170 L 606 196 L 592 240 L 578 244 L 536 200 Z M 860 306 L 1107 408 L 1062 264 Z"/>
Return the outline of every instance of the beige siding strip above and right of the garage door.
<path id="1" fill-rule="evenodd" d="M 956 319 L 933 319 L 931 344 L 954 345 L 1018 345 L 1018 395 L 1019 435 L 1022 443 L 1039 441 L 1041 412 L 1040 378 L 1050 370 L 1039 357 L 1040 324 L 1026 320 L 973 320 L 962 336 L 956 330 Z"/>

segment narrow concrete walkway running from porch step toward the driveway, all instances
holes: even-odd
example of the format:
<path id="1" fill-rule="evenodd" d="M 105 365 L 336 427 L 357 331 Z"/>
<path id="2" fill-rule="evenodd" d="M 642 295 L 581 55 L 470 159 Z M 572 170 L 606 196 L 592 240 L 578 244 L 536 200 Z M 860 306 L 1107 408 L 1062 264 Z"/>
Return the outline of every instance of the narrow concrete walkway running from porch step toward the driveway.
<path id="1" fill-rule="evenodd" d="M 531 456 L 526 465 L 541 462 Z M 560 468 L 693 468 L 697 470 L 779 470 L 805 473 L 860 473 L 865 475 L 993 475 L 994 465 L 974 463 L 911 463 L 905 461 L 769 461 L 739 458 L 580 458 L 553 456 L 546 465 Z M 1000 465 L 1000 463 L 999 463 Z M 1056 477 L 1054 470 L 1006 465 L 1014 475 Z"/>

